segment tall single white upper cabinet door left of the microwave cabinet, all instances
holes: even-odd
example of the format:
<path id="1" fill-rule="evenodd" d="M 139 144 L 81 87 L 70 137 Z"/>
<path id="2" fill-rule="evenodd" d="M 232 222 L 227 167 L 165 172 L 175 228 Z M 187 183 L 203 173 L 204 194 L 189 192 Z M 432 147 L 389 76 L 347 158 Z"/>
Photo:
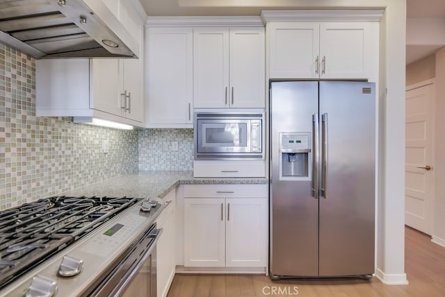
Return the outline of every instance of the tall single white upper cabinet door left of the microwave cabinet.
<path id="1" fill-rule="evenodd" d="M 193 28 L 149 28 L 147 122 L 192 124 Z"/>

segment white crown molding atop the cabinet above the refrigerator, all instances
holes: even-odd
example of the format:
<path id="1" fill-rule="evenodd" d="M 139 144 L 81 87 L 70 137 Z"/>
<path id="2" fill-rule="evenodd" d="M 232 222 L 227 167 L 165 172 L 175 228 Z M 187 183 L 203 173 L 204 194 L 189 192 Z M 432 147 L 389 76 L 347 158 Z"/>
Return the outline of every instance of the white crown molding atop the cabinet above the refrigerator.
<path id="1" fill-rule="evenodd" d="M 380 22 L 384 9 L 375 10 L 263 10 L 267 22 Z"/>

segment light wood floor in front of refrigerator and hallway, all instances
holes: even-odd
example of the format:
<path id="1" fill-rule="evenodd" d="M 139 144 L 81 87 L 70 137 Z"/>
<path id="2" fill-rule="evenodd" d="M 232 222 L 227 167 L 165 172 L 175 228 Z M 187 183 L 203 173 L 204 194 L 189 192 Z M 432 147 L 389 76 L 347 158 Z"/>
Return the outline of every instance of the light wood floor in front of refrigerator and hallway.
<path id="1" fill-rule="evenodd" d="M 405 228 L 405 271 L 410 285 L 403 286 L 384 285 L 377 278 L 371 280 L 293 279 L 272 282 L 264 275 L 177 274 L 168 297 L 445 296 L 445 248 L 433 244 L 428 235 L 412 228 Z M 275 294 L 272 290 L 275 290 Z"/>

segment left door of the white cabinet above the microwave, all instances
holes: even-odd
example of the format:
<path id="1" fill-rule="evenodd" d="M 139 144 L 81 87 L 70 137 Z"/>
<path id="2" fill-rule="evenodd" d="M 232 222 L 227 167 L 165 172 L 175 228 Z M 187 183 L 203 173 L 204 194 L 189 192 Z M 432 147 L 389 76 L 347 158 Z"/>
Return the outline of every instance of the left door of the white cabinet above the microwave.
<path id="1" fill-rule="evenodd" d="M 229 107 L 229 29 L 193 29 L 193 105 Z"/>

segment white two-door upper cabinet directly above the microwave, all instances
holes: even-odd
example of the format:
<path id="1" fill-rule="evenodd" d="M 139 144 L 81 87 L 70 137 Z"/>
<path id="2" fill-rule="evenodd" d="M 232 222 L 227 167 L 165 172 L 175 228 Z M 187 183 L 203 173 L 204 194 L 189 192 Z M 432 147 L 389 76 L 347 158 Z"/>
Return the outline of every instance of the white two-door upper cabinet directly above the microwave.
<path id="1" fill-rule="evenodd" d="M 264 108 L 264 59 L 264 28 L 194 28 L 194 107 Z"/>

